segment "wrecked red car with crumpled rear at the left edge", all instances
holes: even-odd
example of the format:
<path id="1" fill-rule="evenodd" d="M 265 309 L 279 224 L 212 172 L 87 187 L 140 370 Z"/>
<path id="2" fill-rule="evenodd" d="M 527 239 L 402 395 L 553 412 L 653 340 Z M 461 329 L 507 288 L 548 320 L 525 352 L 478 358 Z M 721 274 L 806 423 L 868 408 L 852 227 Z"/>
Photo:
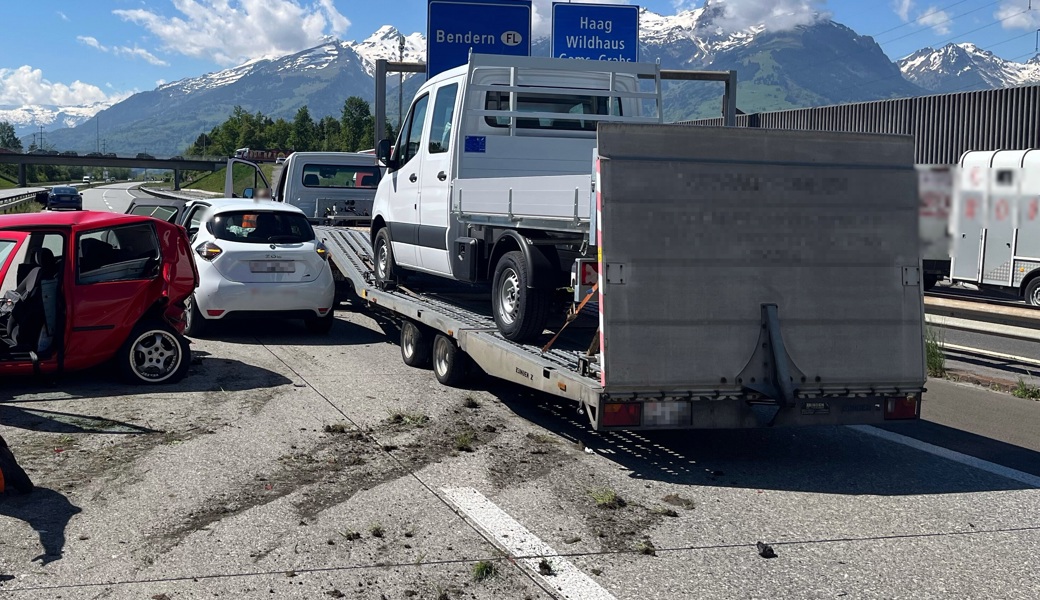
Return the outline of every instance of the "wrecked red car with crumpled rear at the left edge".
<path id="1" fill-rule="evenodd" d="M 184 299 L 199 283 L 184 228 L 110 212 L 0 215 L 0 376 L 114 359 L 136 383 L 182 377 Z"/>

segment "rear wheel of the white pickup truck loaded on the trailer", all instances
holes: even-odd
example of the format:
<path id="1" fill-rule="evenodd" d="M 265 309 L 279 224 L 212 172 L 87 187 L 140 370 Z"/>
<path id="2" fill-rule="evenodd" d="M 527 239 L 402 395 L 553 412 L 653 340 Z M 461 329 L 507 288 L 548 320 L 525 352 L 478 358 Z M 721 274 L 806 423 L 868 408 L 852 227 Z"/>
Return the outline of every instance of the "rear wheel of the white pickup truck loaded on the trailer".
<path id="1" fill-rule="evenodd" d="M 502 336 L 528 342 L 545 330 L 552 304 L 552 290 L 528 287 L 530 273 L 523 253 L 509 252 L 498 259 L 491 290 L 491 309 Z"/>

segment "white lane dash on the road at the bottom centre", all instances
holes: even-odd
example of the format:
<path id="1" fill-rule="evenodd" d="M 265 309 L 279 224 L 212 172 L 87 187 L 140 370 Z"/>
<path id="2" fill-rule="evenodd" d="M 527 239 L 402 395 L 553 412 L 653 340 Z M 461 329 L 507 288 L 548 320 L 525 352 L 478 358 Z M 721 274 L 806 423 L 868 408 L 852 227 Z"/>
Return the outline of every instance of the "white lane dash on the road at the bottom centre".
<path id="1" fill-rule="evenodd" d="M 473 488 L 442 488 L 459 510 L 473 520 L 501 547 L 513 556 L 532 556 L 517 558 L 517 562 L 527 568 L 536 577 L 554 588 L 564 598 L 580 600 L 616 600 L 609 592 L 593 581 L 578 570 L 570 560 L 556 554 L 551 546 L 541 541 L 499 508 L 494 502 L 484 497 Z M 545 557 L 552 566 L 551 575 L 542 575 L 539 564 Z"/>

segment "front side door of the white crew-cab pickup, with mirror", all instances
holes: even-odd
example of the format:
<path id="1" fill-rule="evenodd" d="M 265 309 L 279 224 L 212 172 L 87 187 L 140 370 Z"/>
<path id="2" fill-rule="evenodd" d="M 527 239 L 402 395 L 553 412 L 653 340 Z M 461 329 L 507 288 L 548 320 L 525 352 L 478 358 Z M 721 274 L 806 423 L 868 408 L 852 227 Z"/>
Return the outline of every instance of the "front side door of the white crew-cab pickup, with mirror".
<path id="1" fill-rule="evenodd" d="M 426 123 L 430 95 L 418 98 L 408 111 L 393 157 L 397 171 L 390 178 L 390 214 L 387 226 L 393 246 L 394 261 L 404 266 L 419 266 L 416 247 L 419 243 L 419 175 L 422 159 L 422 131 Z"/>

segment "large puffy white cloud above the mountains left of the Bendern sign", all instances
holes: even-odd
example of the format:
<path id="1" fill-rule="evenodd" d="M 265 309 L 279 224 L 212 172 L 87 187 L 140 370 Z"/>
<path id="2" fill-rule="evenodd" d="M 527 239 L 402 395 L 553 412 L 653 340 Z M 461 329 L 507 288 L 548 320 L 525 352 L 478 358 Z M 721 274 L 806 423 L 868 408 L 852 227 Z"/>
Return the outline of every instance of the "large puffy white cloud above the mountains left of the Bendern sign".
<path id="1" fill-rule="evenodd" d="M 113 10 L 148 29 L 167 52 L 239 64 L 311 48 L 350 26 L 333 0 L 172 0 L 179 15 L 137 8 Z"/>

